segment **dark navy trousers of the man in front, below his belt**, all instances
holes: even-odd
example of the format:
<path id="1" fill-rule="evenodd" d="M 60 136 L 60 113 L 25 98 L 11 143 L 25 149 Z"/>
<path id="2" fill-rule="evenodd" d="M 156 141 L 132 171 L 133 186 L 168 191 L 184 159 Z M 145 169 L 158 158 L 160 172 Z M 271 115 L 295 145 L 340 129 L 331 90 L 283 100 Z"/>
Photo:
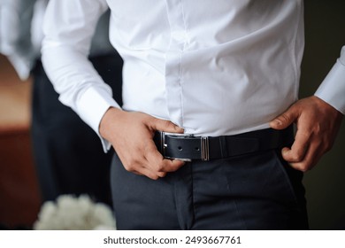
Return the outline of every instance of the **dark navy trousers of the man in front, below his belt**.
<path id="1" fill-rule="evenodd" d="M 194 161 L 157 181 L 116 154 L 111 164 L 118 229 L 308 229 L 302 178 L 280 151 Z"/>

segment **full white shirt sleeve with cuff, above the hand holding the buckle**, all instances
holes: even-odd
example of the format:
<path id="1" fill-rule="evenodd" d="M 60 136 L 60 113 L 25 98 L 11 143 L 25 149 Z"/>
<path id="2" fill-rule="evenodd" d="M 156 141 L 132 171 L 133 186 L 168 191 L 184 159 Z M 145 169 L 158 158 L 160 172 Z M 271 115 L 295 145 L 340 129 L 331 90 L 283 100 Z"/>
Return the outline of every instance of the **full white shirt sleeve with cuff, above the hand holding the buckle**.
<path id="1" fill-rule="evenodd" d="M 99 123 L 109 107 L 119 105 L 112 98 L 88 60 L 92 36 L 99 17 L 108 9 L 105 0 L 50 0 L 44 17 L 42 64 L 59 94 L 59 100 L 99 134 Z"/>

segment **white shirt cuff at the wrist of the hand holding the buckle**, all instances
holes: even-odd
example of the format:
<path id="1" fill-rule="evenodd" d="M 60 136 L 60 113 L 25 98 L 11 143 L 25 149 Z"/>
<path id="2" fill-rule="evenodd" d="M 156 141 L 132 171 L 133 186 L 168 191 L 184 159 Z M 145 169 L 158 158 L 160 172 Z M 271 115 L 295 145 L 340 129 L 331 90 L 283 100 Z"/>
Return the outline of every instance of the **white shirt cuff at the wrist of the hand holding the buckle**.
<path id="1" fill-rule="evenodd" d="M 104 113 L 110 108 L 121 108 L 108 91 L 96 87 L 89 87 L 77 100 L 77 112 L 80 118 L 90 126 L 101 139 L 103 151 L 111 149 L 111 143 L 99 134 L 99 124 Z"/>

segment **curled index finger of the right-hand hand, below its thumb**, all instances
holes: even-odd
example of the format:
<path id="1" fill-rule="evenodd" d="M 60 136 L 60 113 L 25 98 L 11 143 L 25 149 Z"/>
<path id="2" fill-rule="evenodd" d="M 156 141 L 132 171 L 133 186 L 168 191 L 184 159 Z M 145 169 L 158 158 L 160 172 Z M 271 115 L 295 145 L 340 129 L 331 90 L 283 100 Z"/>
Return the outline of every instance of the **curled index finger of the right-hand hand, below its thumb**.
<path id="1" fill-rule="evenodd" d="M 289 163 L 301 162 L 305 153 L 310 146 L 310 135 L 303 131 L 297 130 L 295 135 L 295 142 L 292 144 L 291 149 L 283 148 L 281 151 L 283 159 L 287 160 Z"/>

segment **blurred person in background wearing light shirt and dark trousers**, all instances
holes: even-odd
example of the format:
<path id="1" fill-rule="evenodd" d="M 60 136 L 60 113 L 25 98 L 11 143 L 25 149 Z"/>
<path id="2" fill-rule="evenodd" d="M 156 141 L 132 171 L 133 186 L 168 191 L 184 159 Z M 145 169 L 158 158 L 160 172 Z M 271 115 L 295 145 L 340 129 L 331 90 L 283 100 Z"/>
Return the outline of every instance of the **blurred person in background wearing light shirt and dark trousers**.
<path id="1" fill-rule="evenodd" d="M 20 79 L 33 76 L 32 140 L 42 201 L 62 194 L 88 194 L 111 205 L 109 183 L 112 152 L 103 153 L 92 131 L 58 101 L 41 63 L 42 19 L 47 0 L 0 1 L 0 52 Z M 121 87 L 122 60 L 108 39 L 109 13 L 96 28 L 90 59 L 115 92 Z M 114 84 L 113 81 L 117 83 Z M 121 101 L 120 94 L 116 96 Z"/>

